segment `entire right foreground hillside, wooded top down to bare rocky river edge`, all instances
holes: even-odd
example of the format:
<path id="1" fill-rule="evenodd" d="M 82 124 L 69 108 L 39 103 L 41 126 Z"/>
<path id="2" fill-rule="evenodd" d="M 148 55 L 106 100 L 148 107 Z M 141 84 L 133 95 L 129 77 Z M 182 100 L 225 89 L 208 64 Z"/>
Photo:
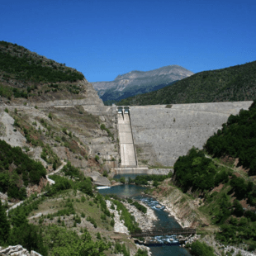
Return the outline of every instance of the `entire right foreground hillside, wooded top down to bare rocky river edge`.
<path id="1" fill-rule="evenodd" d="M 256 249 L 255 103 L 231 115 L 204 150 L 192 148 L 180 156 L 172 182 L 154 191 L 182 221 L 198 225 L 197 232 L 206 235 L 202 240 L 210 243 L 209 235 L 216 233 L 215 239 L 225 247 L 249 251 Z M 173 199 L 177 187 L 183 194 L 179 191 Z M 220 250 L 215 244 L 211 243 Z"/>

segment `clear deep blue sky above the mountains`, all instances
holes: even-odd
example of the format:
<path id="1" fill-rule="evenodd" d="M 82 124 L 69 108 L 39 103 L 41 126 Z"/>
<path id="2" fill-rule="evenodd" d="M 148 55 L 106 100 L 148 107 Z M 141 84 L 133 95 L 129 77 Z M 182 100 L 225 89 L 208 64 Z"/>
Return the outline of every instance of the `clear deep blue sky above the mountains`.
<path id="1" fill-rule="evenodd" d="M 8 0 L 0 40 L 89 82 L 178 64 L 194 73 L 256 60 L 256 1 Z"/>

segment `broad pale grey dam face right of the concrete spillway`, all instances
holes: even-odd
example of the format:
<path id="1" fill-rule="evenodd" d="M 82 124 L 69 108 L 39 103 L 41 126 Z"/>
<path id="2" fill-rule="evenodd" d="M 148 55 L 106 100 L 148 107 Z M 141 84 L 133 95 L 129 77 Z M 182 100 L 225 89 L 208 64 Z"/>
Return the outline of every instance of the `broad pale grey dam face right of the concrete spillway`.
<path id="1" fill-rule="evenodd" d="M 139 165 L 141 161 L 173 166 L 179 156 L 221 129 L 228 117 L 253 102 L 215 102 L 130 107 L 130 123 Z"/>

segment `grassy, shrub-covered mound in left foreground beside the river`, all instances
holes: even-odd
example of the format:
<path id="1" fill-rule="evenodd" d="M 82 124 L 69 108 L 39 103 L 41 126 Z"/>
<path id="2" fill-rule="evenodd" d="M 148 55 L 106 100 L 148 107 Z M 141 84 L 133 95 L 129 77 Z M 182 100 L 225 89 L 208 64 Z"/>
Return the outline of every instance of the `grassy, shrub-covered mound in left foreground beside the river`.
<path id="1" fill-rule="evenodd" d="M 106 198 L 93 192 L 90 179 L 85 178 L 78 168 L 67 164 L 64 174 L 68 178 L 50 176 L 55 184 L 46 187 L 44 196 L 32 195 L 21 206 L 9 211 L 8 217 L 0 201 L 0 235 L 4 234 L 0 245 L 21 244 L 44 256 L 73 255 L 73 252 L 81 256 L 103 256 L 106 253 L 130 256 L 126 244 L 113 242 L 107 235 L 115 221 L 107 209 Z M 128 229 L 138 229 L 135 218 L 130 216 L 121 201 L 111 200 Z M 40 217 L 35 216 L 36 212 L 45 213 L 45 209 L 52 210 L 48 214 L 46 210 L 46 214 Z M 32 219 L 28 221 L 29 216 Z M 88 230 L 85 223 L 92 223 L 93 227 Z M 139 250 L 136 255 L 147 254 Z"/>

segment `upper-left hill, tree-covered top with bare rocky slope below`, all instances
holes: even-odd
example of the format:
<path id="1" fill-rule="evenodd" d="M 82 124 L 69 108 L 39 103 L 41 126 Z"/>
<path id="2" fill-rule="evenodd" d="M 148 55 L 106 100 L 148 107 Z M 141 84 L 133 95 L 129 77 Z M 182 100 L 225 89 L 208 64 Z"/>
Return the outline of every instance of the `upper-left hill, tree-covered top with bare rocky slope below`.
<path id="1" fill-rule="evenodd" d="M 0 97 L 4 102 L 45 102 L 86 97 L 83 73 L 20 46 L 0 41 Z M 20 100 L 18 100 L 20 98 Z"/>

